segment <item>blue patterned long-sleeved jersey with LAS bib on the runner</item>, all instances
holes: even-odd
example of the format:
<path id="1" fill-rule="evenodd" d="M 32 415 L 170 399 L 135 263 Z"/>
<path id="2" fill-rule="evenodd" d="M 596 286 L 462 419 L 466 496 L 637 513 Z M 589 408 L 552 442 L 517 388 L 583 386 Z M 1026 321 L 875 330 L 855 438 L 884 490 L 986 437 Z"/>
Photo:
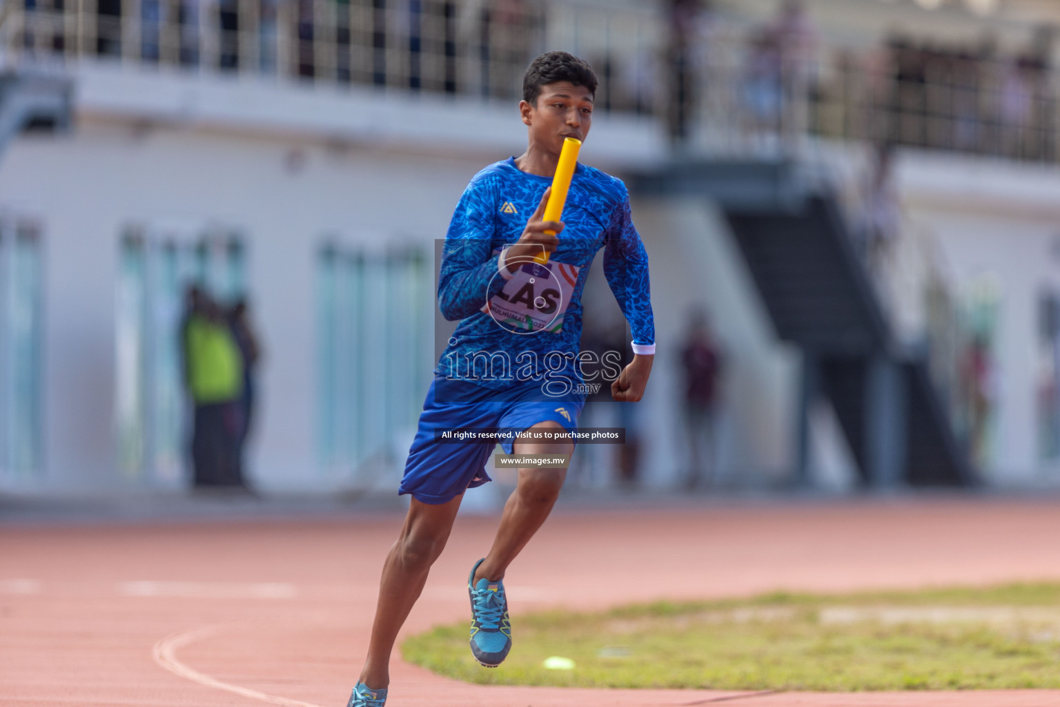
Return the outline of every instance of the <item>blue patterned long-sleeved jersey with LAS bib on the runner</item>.
<path id="1" fill-rule="evenodd" d="M 579 164 L 563 210 L 565 229 L 545 265 L 512 275 L 499 258 L 515 244 L 550 177 L 527 174 L 514 158 L 475 175 L 464 190 L 442 249 L 438 301 L 460 320 L 435 372 L 501 390 L 543 379 L 549 395 L 581 382 L 577 359 L 581 296 L 598 250 L 603 271 L 630 324 L 634 351 L 654 353 L 648 254 L 633 226 L 620 179 Z"/>

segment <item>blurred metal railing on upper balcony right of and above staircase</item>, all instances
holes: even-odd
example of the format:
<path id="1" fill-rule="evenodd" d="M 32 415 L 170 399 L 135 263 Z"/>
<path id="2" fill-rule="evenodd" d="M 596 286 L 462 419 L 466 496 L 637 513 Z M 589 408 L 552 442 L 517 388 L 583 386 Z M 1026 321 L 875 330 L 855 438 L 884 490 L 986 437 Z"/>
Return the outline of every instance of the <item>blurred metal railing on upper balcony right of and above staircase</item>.
<path id="1" fill-rule="evenodd" d="M 806 137 L 1056 162 L 1057 72 L 1028 57 L 915 59 L 904 50 L 824 57 L 736 41 L 708 56 L 700 121 L 714 146 L 796 151 Z M 825 60 L 819 60 L 824 58 Z"/>

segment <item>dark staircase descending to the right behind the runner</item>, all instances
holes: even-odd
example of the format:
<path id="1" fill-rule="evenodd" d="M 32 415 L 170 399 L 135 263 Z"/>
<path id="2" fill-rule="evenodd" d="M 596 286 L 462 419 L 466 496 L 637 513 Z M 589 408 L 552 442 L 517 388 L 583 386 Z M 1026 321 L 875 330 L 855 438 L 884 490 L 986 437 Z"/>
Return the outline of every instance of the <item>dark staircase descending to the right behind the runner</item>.
<path id="1" fill-rule="evenodd" d="M 640 194 L 697 194 L 721 206 L 777 337 L 803 354 L 799 459 L 810 409 L 831 402 L 865 487 L 969 485 L 922 351 L 899 346 L 836 198 L 790 162 L 704 162 L 637 175 Z"/>

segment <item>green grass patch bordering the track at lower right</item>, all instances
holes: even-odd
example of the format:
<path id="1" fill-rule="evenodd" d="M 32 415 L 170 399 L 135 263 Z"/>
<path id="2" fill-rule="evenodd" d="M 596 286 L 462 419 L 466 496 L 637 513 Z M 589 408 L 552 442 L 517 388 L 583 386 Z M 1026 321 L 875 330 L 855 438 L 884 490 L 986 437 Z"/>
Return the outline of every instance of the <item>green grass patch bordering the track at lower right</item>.
<path id="1" fill-rule="evenodd" d="M 518 589 L 512 597 L 518 601 Z M 726 690 L 1060 688 L 1060 584 L 658 602 L 513 618 L 499 668 L 470 621 L 402 644 L 406 660 L 485 685 Z M 549 656 L 575 661 L 548 670 Z"/>

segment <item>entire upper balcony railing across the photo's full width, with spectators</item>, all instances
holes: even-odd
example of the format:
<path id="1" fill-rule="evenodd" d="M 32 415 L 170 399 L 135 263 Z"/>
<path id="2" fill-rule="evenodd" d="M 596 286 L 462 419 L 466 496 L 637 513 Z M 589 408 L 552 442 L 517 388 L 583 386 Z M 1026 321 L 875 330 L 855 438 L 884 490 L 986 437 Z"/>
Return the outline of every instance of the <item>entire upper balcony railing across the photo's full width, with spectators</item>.
<path id="1" fill-rule="evenodd" d="M 864 52 L 734 18 L 675 49 L 653 3 L 588 0 L 8 0 L 7 64 L 143 67 L 514 99 L 529 60 L 568 49 L 598 106 L 667 120 L 708 153 L 792 153 L 808 137 L 1060 159 L 1060 81 L 1032 56 Z M 773 37 L 770 39 L 770 37 Z M 779 37 L 779 38 L 778 38 Z"/>

